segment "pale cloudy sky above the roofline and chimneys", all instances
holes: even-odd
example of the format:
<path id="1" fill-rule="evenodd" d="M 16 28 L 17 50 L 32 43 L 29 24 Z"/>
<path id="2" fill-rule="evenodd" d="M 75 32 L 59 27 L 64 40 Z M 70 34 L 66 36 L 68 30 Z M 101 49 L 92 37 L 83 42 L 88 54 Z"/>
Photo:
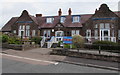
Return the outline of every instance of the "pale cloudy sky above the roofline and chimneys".
<path id="1" fill-rule="evenodd" d="M 94 14 L 95 9 L 106 3 L 112 11 L 118 11 L 120 0 L 1 0 L 0 2 L 0 29 L 12 18 L 19 17 L 23 10 L 30 15 L 43 14 L 43 16 L 58 15 L 59 8 L 62 15 L 68 14 L 72 9 L 73 15 Z"/>

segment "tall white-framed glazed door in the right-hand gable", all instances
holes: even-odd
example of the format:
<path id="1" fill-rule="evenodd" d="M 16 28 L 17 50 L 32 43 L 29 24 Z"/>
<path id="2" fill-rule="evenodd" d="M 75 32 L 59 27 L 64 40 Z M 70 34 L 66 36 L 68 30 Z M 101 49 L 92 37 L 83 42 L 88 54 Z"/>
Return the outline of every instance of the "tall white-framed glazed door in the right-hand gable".
<path id="1" fill-rule="evenodd" d="M 100 40 L 110 41 L 110 30 L 109 29 L 100 30 Z"/>

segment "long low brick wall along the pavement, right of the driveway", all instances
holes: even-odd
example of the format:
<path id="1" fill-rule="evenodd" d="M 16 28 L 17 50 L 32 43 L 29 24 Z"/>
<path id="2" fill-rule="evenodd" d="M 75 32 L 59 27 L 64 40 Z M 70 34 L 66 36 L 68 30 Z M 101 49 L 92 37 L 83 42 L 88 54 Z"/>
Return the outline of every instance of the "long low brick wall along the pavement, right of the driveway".
<path id="1" fill-rule="evenodd" d="M 50 54 L 65 55 L 65 56 L 70 56 L 70 57 L 79 57 L 79 58 L 87 58 L 87 59 L 95 59 L 95 60 L 120 62 L 119 56 L 108 56 L 108 55 L 101 55 L 101 54 L 81 53 L 81 52 L 69 51 L 69 50 L 63 50 L 63 49 L 53 49 Z"/>

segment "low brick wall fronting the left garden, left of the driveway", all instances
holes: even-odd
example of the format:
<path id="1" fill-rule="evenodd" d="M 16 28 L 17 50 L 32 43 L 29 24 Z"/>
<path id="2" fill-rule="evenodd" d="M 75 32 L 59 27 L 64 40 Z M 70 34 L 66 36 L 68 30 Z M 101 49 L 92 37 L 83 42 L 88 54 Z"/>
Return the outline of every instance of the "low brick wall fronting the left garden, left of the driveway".
<path id="1" fill-rule="evenodd" d="M 14 50 L 29 50 L 32 48 L 37 48 L 39 45 L 15 45 L 3 43 L 2 48 L 14 49 Z"/>

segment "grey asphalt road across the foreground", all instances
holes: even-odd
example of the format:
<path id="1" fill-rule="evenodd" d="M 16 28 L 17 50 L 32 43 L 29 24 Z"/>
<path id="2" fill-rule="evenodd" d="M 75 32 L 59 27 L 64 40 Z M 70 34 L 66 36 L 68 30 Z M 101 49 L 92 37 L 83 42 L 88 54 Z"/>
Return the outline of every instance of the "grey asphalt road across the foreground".
<path id="1" fill-rule="evenodd" d="M 6 55 L 2 55 L 1 59 L 2 73 L 118 73 L 107 69 Z"/>

